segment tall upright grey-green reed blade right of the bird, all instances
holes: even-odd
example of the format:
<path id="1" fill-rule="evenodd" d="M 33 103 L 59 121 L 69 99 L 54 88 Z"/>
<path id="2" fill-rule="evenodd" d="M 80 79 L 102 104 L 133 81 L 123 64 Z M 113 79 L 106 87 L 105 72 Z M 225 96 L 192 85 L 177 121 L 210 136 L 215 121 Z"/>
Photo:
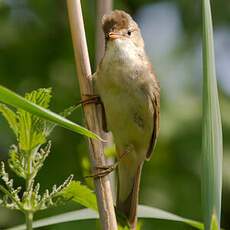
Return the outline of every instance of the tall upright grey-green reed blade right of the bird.
<path id="1" fill-rule="evenodd" d="M 205 229 L 212 219 L 220 229 L 222 193 L 222 127 L 215 70 L 212 16 L 209 0 L 202 1 L 203 16 L 203 127 L 202 196 Z"/>

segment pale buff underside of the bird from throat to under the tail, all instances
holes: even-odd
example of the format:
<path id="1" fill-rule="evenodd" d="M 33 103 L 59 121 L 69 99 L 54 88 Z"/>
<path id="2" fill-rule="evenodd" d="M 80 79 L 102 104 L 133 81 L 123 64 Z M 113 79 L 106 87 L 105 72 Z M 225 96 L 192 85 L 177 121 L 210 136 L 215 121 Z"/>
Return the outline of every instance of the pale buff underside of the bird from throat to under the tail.
<path id="1" fill-rule="evenodd" d="M 151 91 L 155 82 L 143 49 L 124 39 L 107 43 L 94 79 L 117 152 L 119 155 L 127 152 L 119 167 L 120 183 L 124 180 L 127 184 L 120 188 L 119 198 L 125 200 L 132 189 L 137 167 L 146 158 L 153 133 Z"/>

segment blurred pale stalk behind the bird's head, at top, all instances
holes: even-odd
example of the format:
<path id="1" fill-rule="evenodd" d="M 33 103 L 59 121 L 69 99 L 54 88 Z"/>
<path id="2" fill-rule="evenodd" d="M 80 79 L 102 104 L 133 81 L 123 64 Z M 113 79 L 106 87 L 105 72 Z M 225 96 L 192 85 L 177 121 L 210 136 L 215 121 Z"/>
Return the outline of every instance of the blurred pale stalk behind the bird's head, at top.
<path id="1" fill-rule="evenodd" d="M 96 21 L 96 65 L 99 64 L 105 50 L 105 38 L 101 28 L 101 18 L 113 8 L 113 0 L 97 0 L 97 21 Z"/>

